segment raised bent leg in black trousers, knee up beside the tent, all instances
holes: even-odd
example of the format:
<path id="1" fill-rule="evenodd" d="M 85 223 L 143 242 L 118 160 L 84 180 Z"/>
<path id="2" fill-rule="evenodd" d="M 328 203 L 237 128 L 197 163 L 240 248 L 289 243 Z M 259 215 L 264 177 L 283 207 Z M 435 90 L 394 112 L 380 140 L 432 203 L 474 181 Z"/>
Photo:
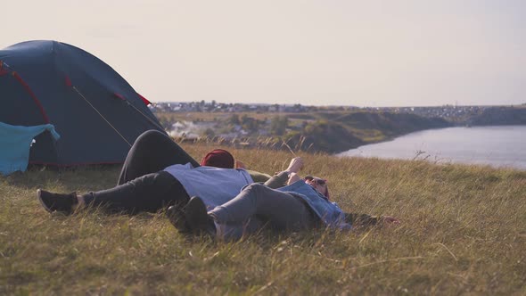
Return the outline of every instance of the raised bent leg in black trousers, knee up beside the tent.
<path id="1" fill-rule="evenodd" d="M 188 162 L 194 168 L 199 167 L 199 163 L 168 136 L 158 130 L 148 130 L 137 137 L 127 152 L 117 185 L 158 172 L 173 164 Z"/>

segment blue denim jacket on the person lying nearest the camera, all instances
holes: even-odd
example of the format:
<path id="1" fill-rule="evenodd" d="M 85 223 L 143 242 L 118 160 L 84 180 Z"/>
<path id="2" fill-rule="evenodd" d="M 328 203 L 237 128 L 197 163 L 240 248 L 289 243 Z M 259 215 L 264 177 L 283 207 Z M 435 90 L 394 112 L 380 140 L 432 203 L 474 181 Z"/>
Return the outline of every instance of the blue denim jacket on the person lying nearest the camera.
<path id="1" fill-rule="evenodd" d="M 292 183 L 276 190 L 300 197 L 316 213 L 317 217 L 331 228 L 350 229 L 345 222 L 345 215 L 336 202 L 329 201 L 324 194 L 318 193 L 311 185 L 303 180 Z"/>

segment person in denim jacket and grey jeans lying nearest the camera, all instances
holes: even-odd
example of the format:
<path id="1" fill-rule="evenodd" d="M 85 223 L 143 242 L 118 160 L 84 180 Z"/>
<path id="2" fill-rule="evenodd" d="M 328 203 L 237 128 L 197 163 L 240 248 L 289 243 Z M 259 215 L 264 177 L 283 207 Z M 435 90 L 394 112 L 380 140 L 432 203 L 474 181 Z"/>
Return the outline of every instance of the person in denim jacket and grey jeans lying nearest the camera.
<path id="1" fill-rule="evenodd" d="M 224 239 L 239 239 L 242 234 L 253 234 L 267 226 L 276 231 L 306 231 L 319 227 L 349 230 L 353 223 L 374 224 L 382 221 L 398 224 L 397 218 L 344 213 L 329 200 L 325 179 L 300 178 L 301 158 L 294 158 L 289 168 L 270 181 L 287 185 L 277 189 L 267 185 L 251 184 L 242 189 L 234 199 L 207 211 L 202 199 L 193 196 L 183 209 L 168 208 L 168 218 L 176 227 L 188 226 L 193 234 L 209 234 Z M 181 220 L 185 220 L 182 223 Z M 227 228 L 225 227 L 227 226 Z"/>

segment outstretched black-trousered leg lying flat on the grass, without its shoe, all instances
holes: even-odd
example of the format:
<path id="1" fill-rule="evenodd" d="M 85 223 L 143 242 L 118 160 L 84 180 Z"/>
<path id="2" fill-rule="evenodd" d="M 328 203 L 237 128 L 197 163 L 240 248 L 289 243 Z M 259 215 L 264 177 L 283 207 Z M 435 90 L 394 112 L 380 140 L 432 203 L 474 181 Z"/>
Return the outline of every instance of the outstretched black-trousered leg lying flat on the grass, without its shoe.
<path id="1" fill-rule="evenodd" d="M 123 185 L 82 195 L 86 205 L 135 214 L 156 212 L 170 205 L 182 206 L 190 200 L 181 183 L 165 171 L 137 177 Z"/>

